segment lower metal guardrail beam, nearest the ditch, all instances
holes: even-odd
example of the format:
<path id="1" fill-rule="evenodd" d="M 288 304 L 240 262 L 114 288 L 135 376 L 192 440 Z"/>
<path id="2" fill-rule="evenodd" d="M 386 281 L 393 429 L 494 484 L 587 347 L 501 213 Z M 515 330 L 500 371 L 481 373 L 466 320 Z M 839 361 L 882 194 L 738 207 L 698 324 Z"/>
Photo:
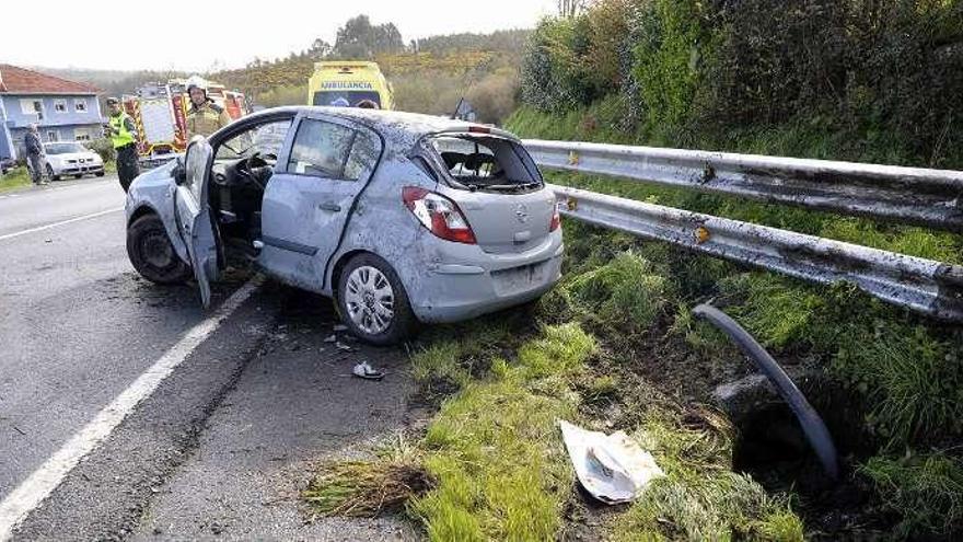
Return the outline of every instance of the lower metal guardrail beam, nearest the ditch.
<path id="1" fill-rule="evenodd" d="M 558 185 L 560 212 L 691 251 L 831 284 L 854 282 L 884 301 L 963 321 L 963 266 Z"/>

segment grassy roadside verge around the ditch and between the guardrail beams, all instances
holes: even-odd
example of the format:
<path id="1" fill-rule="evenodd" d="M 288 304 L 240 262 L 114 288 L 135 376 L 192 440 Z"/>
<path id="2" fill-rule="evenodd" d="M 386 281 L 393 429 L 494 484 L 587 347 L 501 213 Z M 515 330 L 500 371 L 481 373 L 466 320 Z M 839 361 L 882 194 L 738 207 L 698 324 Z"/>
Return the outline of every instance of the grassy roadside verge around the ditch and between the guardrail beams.
<path id="1" fill-rule="evenodd" d="M 549 119 L 523 111 L 512 128 L 544 137 L 531 129 L 535 122 Z M 585 136 L 555 137 L 593 139 Z M 918 228 L 740 205 L 608 178 L 550 176 L 960 261 L 959 238 Z M 446 397 L 409 454 L 408 464 L 432 481 L 420 488 L 433 488 L 399 507 L 430 538 L 545 540 L 578 528 L 583 505 L 555 426 L 559 417 L 627 431 L 668 474 L 631 507 L 606 516 L 593 535 L 799 540 L 803 533 L 950 537 L 959 530 L 963 464 L 953 449 L 963 419 L 959 330 L 845 285 L 808 285 L 571 221 L 565 231 L 565 279 L 537 307 L 434 328 L 413 356 L 413 373 L 427 396 Z M 693 319 L 691 308 L 707 299 L 791 371 L 822 374 L 814 391 L 842 390 L 844 406 L 856 418 L 855 424 L 829 420 L 844 452 L 843 492 L 869 497 L 837 505 L 832 493 L 797 493 L 785 475 L 778 483 L 767 480 L 764 488 L 735 469 L 738 430 L 705 404 L 716 385 L 751 369 L 724 337 Z M 814 401 L 823 408 L 838 406 Z M 360 469 L 378 472 L 380 464 Z M 312 491 L 337 487 L 332 472 L 322 473 Z M 338 511 L 338 501 L 322 503 L 321 510 Z M 836 506 L 845 506 L 854 519 L 824 521 Z"/>

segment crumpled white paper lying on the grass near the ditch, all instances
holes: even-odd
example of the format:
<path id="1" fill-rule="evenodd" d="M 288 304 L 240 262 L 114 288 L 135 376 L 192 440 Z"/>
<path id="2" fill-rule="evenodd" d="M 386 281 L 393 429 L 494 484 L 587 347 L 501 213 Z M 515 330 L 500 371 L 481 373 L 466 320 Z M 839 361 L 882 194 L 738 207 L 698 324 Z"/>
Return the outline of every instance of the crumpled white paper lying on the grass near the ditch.
<path id="1" fill-rule="evenodd" d="M 605 435 L 559 420 L 576 475 L 589 494 L 611 505 L 629 503 L 664 476 L 652 454 L 623 431 Z"/>

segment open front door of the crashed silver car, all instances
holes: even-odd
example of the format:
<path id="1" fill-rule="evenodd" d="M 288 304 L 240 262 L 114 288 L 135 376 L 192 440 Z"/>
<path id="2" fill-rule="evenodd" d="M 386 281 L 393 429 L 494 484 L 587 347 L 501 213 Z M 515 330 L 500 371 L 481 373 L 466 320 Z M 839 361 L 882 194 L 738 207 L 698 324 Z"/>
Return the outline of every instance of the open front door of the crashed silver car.
<path id="1" fill-rule="evenodd" d="M 194 277 L 200 287 L 200 300 L 207 309 L 210 305 L 210 282 L 217 280 L 220 273 L 220 247 L 208 198 L 213 149 L 204 136 L 190 140 L 184 163 L 184 174 L 177 176 L 176 183 L 177 229 L 187 245 Z"/>

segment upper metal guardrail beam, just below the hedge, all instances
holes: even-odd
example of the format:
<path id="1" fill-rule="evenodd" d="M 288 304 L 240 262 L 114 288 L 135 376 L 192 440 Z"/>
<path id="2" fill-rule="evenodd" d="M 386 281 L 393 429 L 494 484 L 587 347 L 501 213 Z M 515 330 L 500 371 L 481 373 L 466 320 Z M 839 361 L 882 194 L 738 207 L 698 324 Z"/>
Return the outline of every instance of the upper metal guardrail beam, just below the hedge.
<path id="1" fill-rule="evenodd" d="M 523 141 L 543 168 L 963 232 L 963 172 L 570 141 Z"/>

